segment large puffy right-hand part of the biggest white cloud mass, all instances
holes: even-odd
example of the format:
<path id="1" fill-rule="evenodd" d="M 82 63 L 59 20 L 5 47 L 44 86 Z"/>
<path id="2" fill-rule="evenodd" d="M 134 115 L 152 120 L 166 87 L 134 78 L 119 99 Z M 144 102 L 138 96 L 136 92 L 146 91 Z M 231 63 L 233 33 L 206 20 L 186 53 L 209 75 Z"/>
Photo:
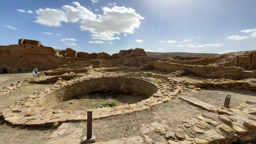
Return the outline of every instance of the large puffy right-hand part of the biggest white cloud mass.
<path id="1" fill-rule="evenodd" d="M 132 34 L 135 28 L 139 28 L 140 20 L 144 19 L 134 9 L 124 6 L 103 7 L 102 11 L 104 15 L 99 15 L 98 19 L 81 22 L 81 30 L 89 30 L 93 39 L 114 40 L 114 34 Z"/>

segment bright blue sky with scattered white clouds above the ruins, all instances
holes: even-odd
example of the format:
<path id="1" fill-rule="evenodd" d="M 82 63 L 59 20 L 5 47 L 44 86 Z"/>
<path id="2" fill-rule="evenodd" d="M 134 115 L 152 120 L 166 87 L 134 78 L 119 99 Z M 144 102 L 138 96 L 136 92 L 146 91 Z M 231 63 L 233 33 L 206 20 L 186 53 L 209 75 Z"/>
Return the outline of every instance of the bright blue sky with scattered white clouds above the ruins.
<path id="1" fill-rule="evenodd" d="M 256 50 L 255 0 L 3 0 L 0 45 L 18 39 L 112 55 Z"/>

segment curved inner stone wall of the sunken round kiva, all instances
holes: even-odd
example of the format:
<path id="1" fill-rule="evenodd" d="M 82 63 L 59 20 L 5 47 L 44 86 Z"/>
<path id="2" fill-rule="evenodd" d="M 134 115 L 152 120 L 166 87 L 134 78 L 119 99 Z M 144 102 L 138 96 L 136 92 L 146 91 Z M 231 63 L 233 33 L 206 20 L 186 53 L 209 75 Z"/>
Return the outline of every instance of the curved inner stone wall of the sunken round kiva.
<path id="1" fill-rule="evenodd" d="M 43 97 L 42 104 L 43 107 L 51 109 L 57 103 L 76 95 L 90 94 L 91 92 L 120 92 L 124 91 L 124 89 L 140 93 L 148 98 L 158 90 L 155 84 L 137 78 L 101 77 L 81 81 L 53 91 Z"/>

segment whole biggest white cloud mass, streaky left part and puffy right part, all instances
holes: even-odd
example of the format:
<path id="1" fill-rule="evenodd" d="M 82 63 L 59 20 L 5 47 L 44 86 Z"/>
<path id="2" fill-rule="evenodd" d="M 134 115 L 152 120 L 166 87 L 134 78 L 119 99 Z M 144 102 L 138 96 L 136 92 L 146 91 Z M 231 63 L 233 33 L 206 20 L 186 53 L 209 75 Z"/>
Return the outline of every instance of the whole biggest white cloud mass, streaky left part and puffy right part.
<path id="1" fill-rule="evenodd" d="M 94 14 L 78 2 L 72 3 L 76 8 L 64 5 L 62 9 L 38 9 L 37 20 L 34 22 L 54 27 L 60 27 L 61 22 L 80 22 L 81 30 L 90 31 L 92 39 L 115 40 L 115 34 L 134 33 L 135 28 L 140 27 L 140 20 L 144 19 L 134 9 L 124 6 L 111 4 L 112 8 L 102 7 L 103 15 L 100 15 Z"/>

